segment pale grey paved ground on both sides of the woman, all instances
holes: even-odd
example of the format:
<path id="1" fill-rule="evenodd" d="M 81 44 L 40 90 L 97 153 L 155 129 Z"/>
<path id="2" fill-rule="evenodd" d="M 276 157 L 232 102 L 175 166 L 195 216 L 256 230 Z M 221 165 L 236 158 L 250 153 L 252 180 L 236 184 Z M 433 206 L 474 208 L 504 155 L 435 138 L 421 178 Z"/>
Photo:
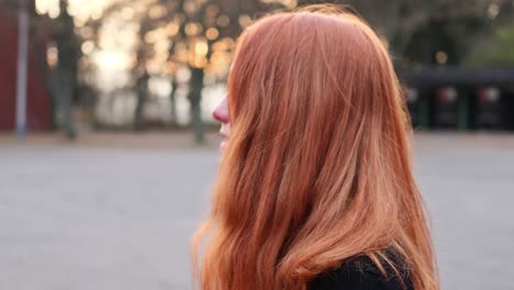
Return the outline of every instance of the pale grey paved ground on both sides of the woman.
<path id="1" fill-rule="evenodd" d="M 0 289 L 190 289 L 216 146 L 111 137 L 0 136 Z M 443 289 L 513 289 L 514 135 L 420 134 L 416 156 Z"/>

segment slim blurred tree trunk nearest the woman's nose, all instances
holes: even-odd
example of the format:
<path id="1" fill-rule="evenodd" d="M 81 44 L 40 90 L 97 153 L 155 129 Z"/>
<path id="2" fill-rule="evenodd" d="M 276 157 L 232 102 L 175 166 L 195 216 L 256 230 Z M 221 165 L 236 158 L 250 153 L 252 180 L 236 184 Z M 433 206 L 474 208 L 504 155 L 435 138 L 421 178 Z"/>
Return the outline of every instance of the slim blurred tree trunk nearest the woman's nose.
<path id="1" fill-rule="evenodd" d="M 203 68 L 191 67 L 191 79 L 189 85 L 189 102 L 191 103 L 191 122 L 194 131 L 194 141 L 203 143 L 205 138 L 205 130 L 202 121 L 202 89 L 203 89 Z"/>

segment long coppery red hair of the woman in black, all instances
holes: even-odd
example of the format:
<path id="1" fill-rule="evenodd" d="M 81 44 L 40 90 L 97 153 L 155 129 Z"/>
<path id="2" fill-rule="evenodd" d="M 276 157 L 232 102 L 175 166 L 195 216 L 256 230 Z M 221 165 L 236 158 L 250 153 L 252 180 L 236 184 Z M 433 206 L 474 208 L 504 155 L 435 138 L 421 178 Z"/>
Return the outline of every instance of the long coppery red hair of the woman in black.
<path id="1" fill-rule="evenodd" d="M 227 89 L 231 134 L 193 236 L 197 287 L 306 289 L 366 255 L 439 289 L 402 89 L 365 21 L 327 5 L 267 15 L 239 37 Z"/>

